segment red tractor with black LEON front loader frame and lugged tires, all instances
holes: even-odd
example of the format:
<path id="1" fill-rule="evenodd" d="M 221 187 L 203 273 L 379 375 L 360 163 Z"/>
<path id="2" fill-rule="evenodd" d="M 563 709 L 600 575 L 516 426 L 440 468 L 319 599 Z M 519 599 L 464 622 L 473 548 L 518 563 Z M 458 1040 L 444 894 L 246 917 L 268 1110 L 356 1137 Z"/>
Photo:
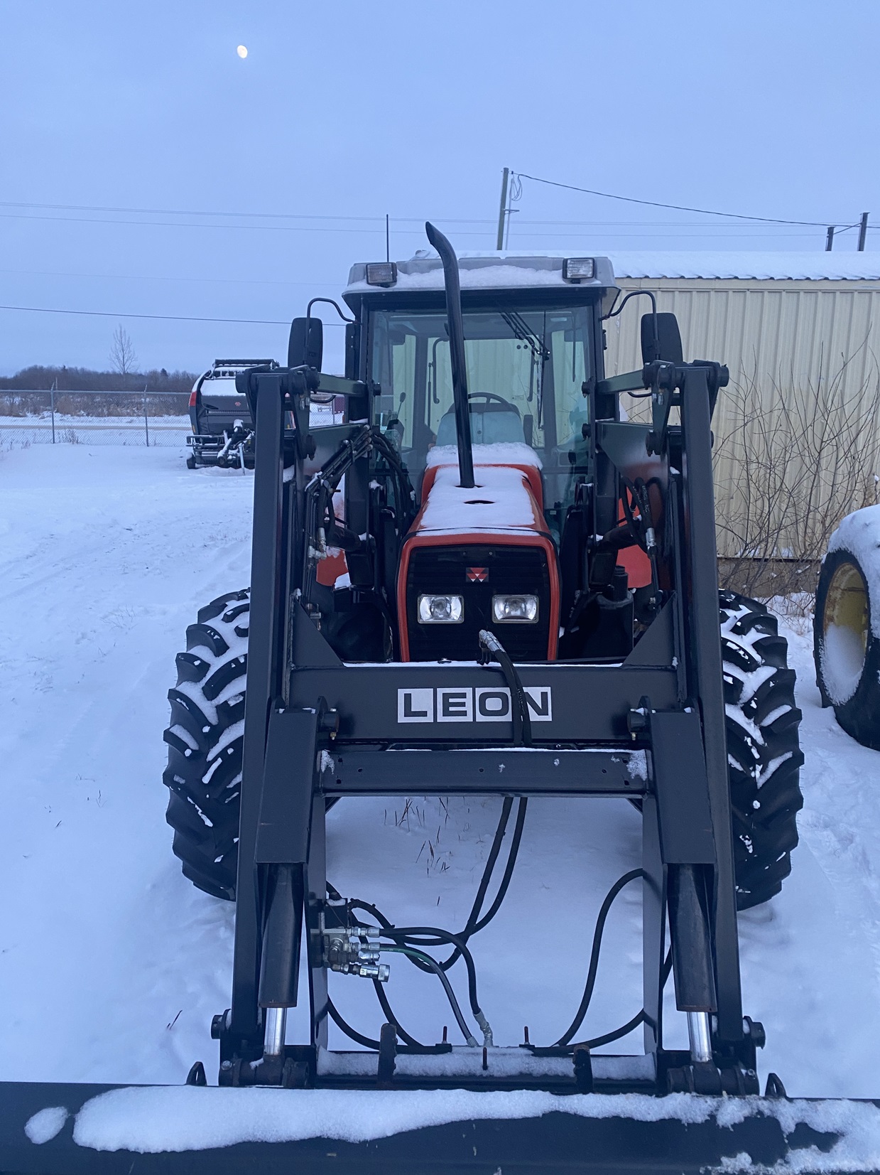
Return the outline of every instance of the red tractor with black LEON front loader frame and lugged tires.
<path id="1" fill-rule="evenodd" d="M 333 303 L 344 377 L 320 371 L 310 303 L 287 367 L 236 380 L 256 422 L 251 584 L 188 630 L 164 774 L 184 873 L 237 904 L 219 1081 L 756 1094 L 763 1030 L 743 1015 L 737 909 L 791 868 L 803 757 L 774 618 L 718 590 L 711 417 L 726 368 L 684 362 L 648 295 L 643 367 L 608 377 L 603 323 L 636 294 L 620 297 L 607 258 L 458 258 L 427 234 L 433 253 L 353 267 L 351 315 Z M 345 422 L 310 427 L 316 394 L 345 397 Z M 642 423 L 624 394 L 644 400 Z M 397 927 L 329 884 L 325 813 L 364 794 L 505 798 L 463 929 Z M 555 1049 L 487 1067 L 467 944 L 496 912 L 482 908 L 490 874 L 516 801 L 509 880 L 532 795 L 641 811 L 641 861 L 618 887 L 641 880 L 644 1000 L 576 1042 L 588 991 Z M 300 949 L 311 1034 L 287 1041 Z M 463 1046 L 397 1023 L 387 952 L 438 975 Z M 469 1022 L 446 980 L 458 960 Z M 330 971 L 373 982 L 379 1033 L 345 1023 Z M 670 972 L 686 1052 L 663 1046 Z M 332 1054 L 330 1020 L 374 1049 L 372 1070 Z M 644 1054 L 594 1055 L 638 1025 Z"/>

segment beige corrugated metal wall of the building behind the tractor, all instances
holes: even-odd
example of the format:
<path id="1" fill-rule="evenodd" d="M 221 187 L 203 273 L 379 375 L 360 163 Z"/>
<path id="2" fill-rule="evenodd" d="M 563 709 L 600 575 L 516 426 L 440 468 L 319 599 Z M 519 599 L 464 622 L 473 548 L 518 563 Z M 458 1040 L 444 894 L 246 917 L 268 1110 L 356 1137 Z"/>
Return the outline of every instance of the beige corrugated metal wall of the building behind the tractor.
<path id="1" fill-rule="evenodd" d="M 719 518 L 733 517 L 738 510 L 742 513 L 743 498 L 750 492 L 743 489 L 744 448 L 761 451 L 765 465 L 781 461 L 780 443 L 773 449 L 767 441 L 769 422 L 784 429 L 786 410 L 803 417 L 810 402 L 820 405 L 821 414 L 842 414 L 840 419 L 848 422 L 846 435 L 858 434 L 858 445 L 864 448 L 862 464 L 872 465 L 865 469 L 866 477 L 874 474 L 880 448 L 880 281 L 618 277 L 618 283 L 624 291 L 654 290 L 657 309 L 677 315 L 685 358 L 717 360 L 730 368 L 731 385 L 722 392 L 713 421 L 716 437 L 726 438 L 716 459 Z M 618 317 L 605 323 L 608 375 L 641 367 L 639 318 L 649 309 L 647 298 L 634 298 Z M 648 410 L 645 401 L 623 396 L 622 403 L 631 418 L 642 418 Z M 790 431 L 793 428 L 790 416 Z M 841 428 L 835 423 L 838 446 Z M 834 443 L 832 438 L 821 443 L 813 439 L 819 466 L 815 476 L 798 465 L 790 445 L 780 474 L 803 485 L 804 492 L 810 489 L 814 502 L 821 499 L 827 509 L 845 513 L 866 504 L 867 498 L 861 484 L 857 485 L 852 455 L 846 455 L 846 478 L 840 472 Z M 812 461 L 808 444 L 804 451 Z M 771 474 L 764 469 L 760 476 L 767 481 Z M 817 481 L 818 486 L 813 485 Z M 767 494 L 771 501 L 773 495 Z M 810 526 L 799 518 L 788 521 L 791 495 L 787 506 L 780 504 L 783 499 L 784 495 L 766 506 L 771 513 L 781 511 L 774 522 L 776 553 L 811 557 L 814 539 L 807 533 Z M 732 531 L 738 533 L 736 525 Z M 731 528 L 722 526 L 720 552 L 740 553 L 738 545 Z"/>

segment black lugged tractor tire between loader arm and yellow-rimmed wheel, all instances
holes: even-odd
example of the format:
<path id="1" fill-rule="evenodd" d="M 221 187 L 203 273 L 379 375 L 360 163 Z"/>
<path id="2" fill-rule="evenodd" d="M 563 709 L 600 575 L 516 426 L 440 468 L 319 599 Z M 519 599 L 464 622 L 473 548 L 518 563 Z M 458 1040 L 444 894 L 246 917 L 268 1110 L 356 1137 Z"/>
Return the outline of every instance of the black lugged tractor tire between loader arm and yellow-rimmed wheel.
<path id="1" fill-rule="evenodd" d="M 798 844 L 800 794 L 794 670 L 777 620 L 757 600 L 719 593 L 737 907 L 779 893 Z"/>

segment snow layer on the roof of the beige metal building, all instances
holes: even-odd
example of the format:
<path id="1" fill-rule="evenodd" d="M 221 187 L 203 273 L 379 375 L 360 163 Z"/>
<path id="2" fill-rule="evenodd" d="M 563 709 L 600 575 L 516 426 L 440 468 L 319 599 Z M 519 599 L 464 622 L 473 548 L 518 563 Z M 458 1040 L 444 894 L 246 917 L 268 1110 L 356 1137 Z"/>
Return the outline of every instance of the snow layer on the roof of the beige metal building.
<path id="1" fill-rule="evenodd" d="M 615 277 L 880 281 L 880 253 L 609 253 Z"/>

